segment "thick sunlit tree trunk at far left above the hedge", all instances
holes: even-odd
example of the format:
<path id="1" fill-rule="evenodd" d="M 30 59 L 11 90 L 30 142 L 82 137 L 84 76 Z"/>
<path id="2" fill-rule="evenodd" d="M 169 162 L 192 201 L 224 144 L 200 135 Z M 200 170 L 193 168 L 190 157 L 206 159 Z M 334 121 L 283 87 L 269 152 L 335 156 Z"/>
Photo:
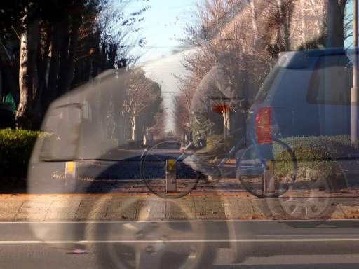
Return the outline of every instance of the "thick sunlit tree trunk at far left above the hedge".
<path id="1" fill-rule="evenodd" d="M 33 81 L 39 44 L 39 20 L 30 18 L 28 13 L 23 19 L 23 27 L 19 69 L 20 104 L 16 112 L 16 127 L 32 128 Z"/>

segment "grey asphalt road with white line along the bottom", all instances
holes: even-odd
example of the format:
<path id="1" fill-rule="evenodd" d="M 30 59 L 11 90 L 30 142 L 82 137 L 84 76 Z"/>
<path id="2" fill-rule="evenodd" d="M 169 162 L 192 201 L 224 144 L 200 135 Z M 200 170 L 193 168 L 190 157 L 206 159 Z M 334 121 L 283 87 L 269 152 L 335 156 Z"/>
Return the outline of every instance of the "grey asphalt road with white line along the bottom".
<path id="1" fill-rule="evenodd" d="M 359 221 L 0 223 L 0 267 L 358 268 L 358 232 Z"/>

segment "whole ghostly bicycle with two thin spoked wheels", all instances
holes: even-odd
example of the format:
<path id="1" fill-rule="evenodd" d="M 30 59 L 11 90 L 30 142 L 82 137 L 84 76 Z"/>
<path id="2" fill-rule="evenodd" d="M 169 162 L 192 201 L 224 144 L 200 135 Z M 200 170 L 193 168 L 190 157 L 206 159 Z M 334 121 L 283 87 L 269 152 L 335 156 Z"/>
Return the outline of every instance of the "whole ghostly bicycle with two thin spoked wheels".
<path id="1" fill-rule="evenodd" d="M 181 198 L 196 188 L 198 181 L 205 176 L 183 163 L 184 158 L 196 154 L 190 151 L 193 144 L 189 143 L 180 152 L 181 142 L 167 140 L 142 153 L 142 179 L 151 192 L 162 198 Z M 244 149 L 243 144 L 245 138 L 235 144 L 219 163 L 206 164 L 215 182 L 226 175 L 226 161 L 242 149 L 240 156 L 236 157 L 236 171 L 245 191 L 258 198 L 283 195 L 297 177 L 297 159 L 292 149 L 278 139 L 272 139 L 267 144 L 252 143 Z M 161 184 L 163 181 L 165 184 Z"/>

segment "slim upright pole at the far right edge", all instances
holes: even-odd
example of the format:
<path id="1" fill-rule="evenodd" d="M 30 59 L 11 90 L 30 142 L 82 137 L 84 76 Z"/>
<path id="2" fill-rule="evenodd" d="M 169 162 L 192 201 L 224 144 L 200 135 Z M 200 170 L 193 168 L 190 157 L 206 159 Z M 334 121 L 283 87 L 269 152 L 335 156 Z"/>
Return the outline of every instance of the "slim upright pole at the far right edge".
<path id="1" fill-rule="evenodd" d="M 353 88 L 351 88 L 351 142 L 358 139 L 358 0 L 354 0 L 353 8 Z"/>

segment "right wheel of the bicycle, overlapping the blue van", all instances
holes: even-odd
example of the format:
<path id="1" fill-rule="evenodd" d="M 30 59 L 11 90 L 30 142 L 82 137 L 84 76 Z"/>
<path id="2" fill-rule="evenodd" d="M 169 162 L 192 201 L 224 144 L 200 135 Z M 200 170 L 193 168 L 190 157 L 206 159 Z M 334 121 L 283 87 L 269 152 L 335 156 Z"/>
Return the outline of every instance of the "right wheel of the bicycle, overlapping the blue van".
<path id="1" fill-rule="evenodd" d="M 253 144 L 245 149 L 237 165 L 237 177 L 252 195 L 277 198 L 290 188 L 297 170 L 292 149 L 273 139 L 270 144 Z"/>

